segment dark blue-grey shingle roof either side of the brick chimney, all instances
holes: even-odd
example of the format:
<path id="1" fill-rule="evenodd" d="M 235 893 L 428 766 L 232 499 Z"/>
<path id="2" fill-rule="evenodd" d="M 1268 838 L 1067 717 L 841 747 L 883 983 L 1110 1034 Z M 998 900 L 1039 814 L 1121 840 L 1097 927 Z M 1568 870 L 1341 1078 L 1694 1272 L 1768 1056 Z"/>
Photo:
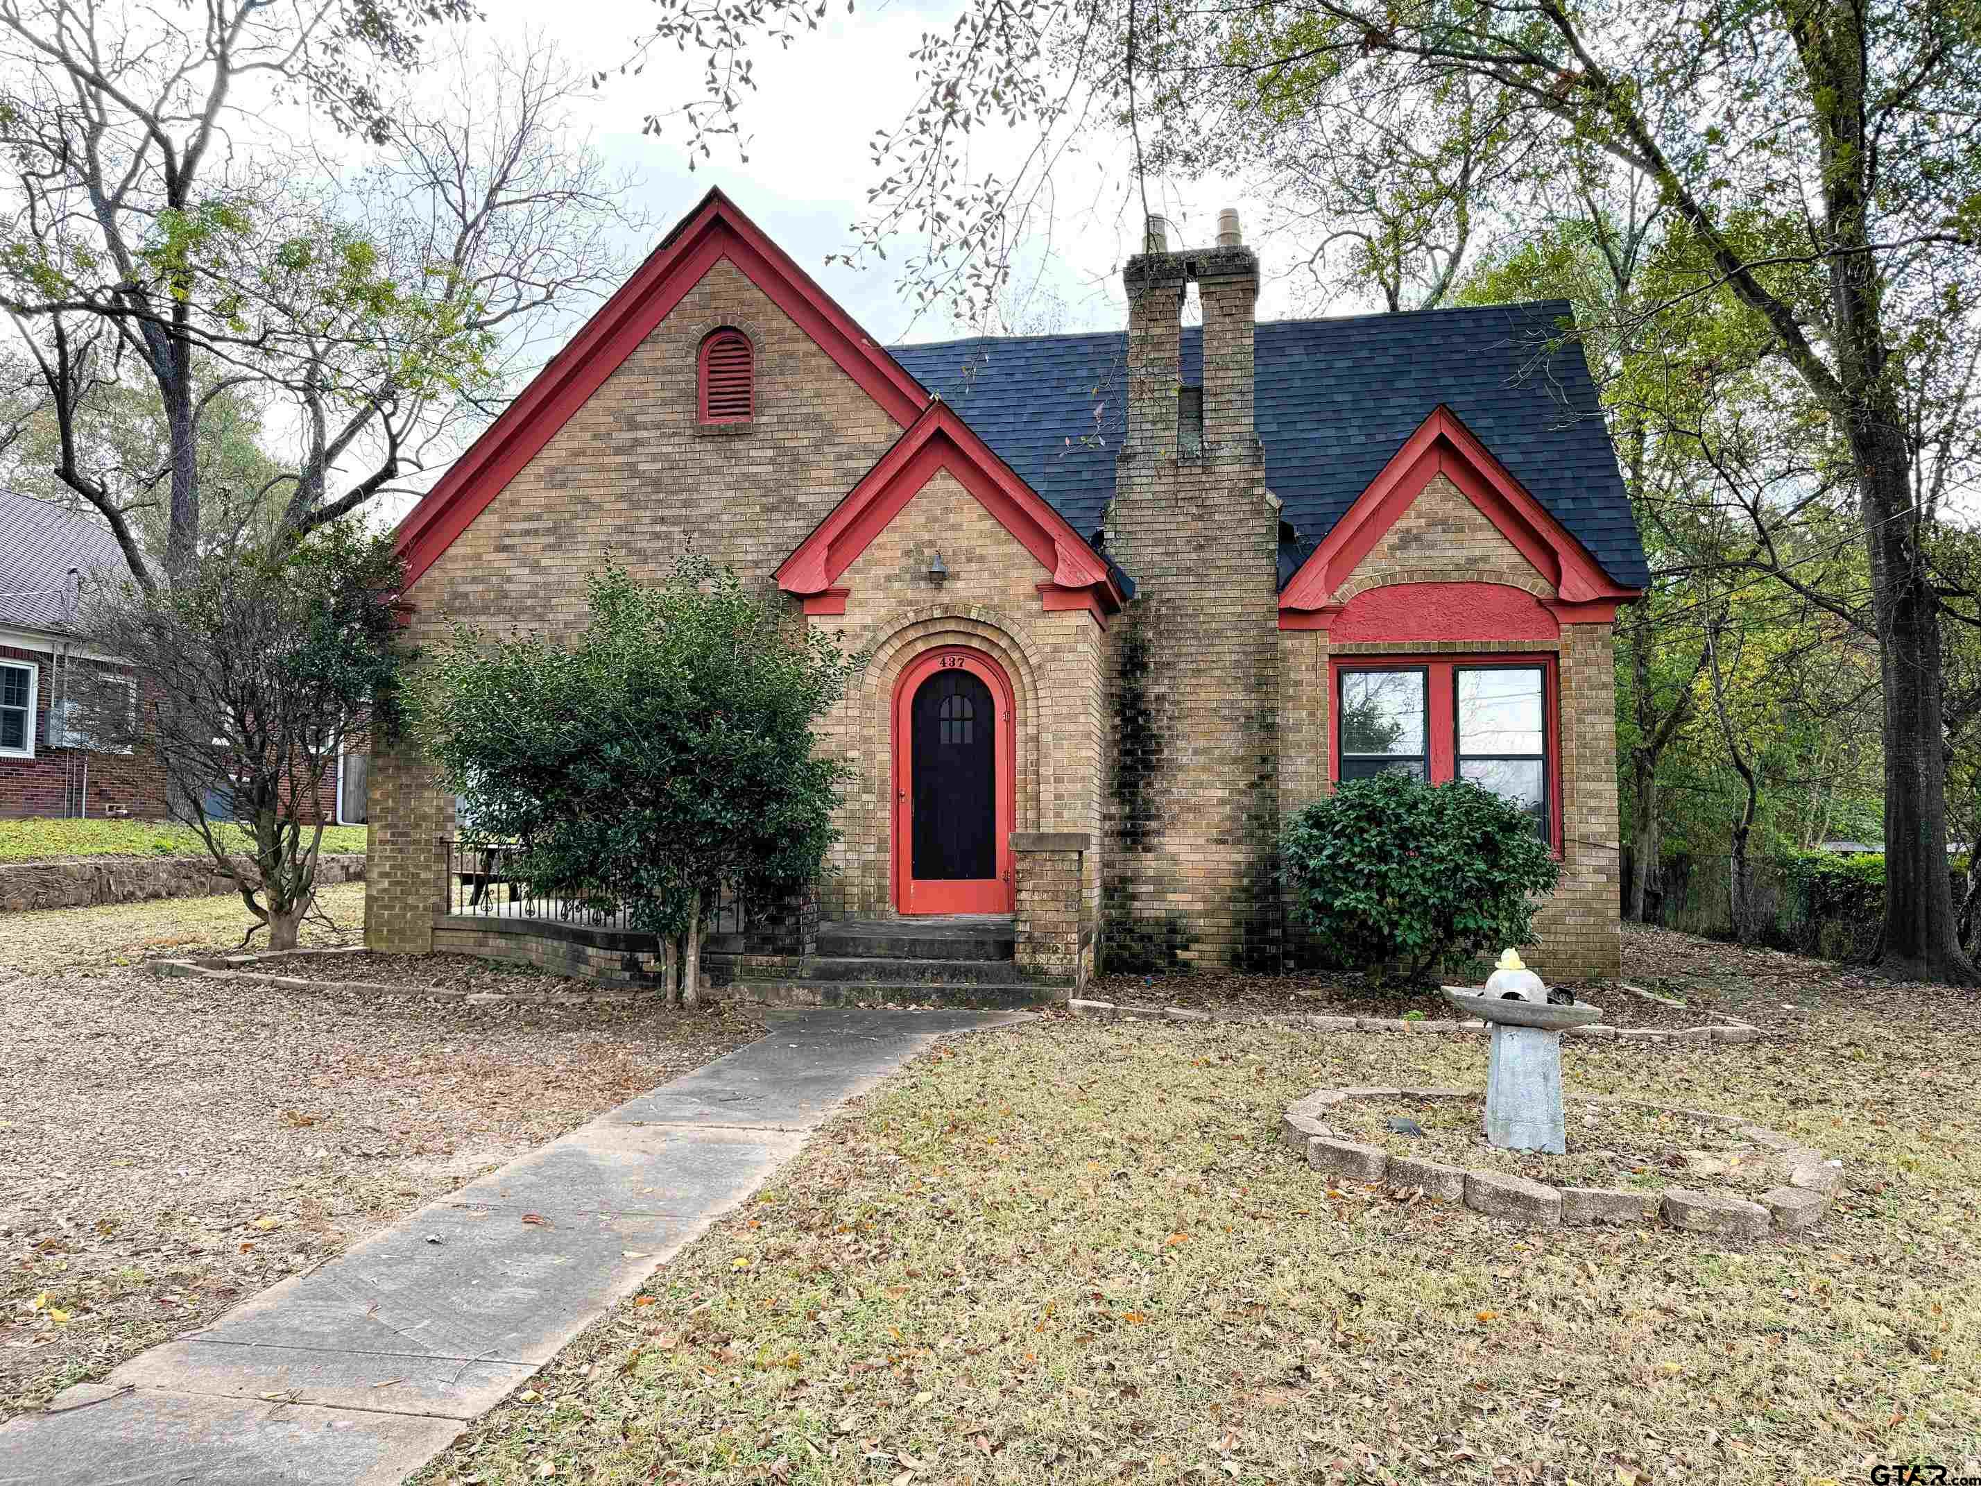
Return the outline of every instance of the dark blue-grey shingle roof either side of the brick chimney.
<path id="1" fill-rule="evenodd" d="M 1266 485 L 1311 547 L 1440 402 L 1624 586 L 1648 571 L 1565 299 L 1298 319 L 1254 335 Z M 891 349 L 1082 535 L 1101 525 L 1121 448 L 1127 337 L 1036 335 Z M 1202 380 L 1202 329 L 1183 331 Z M 1284 575 L 1282 575 L 1284 577 Z"/>

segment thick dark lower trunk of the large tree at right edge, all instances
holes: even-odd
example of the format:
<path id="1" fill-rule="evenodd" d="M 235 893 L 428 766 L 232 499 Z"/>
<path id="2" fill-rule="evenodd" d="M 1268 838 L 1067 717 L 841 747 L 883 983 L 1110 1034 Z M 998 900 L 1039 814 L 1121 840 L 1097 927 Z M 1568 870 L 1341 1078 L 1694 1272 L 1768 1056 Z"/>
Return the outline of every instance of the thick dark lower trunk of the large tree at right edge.
<path id="1" fill-rule="evenodd" d="M 1884 650 L 1884 937 L 1900 981 L 1975 985 L 1947 874 L 1947 751 L 1939 707 L 1939 598 L 1926 569 L 1900 422 L 1866 412 L 1858 456 L 1872 602 Z"/>

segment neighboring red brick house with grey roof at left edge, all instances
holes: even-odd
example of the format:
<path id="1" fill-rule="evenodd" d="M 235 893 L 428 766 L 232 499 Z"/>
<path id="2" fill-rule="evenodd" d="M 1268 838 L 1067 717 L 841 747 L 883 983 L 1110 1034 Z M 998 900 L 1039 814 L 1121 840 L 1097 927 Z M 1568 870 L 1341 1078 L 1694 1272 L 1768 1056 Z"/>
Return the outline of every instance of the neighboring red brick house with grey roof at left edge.
<path id="1" fill-rule="evenodd" d="M 0 818 L 166 818 L 164 771 L 143 749 L 91 747 L 69 703 L 87 668 L 131 690 L 131 668 L 75 636 L 83 584 L 127 573 L 109 529 L 52 501 L 0 491 Z M 363 824 L 363 741 L 325 777 L 313 810 Z"/>

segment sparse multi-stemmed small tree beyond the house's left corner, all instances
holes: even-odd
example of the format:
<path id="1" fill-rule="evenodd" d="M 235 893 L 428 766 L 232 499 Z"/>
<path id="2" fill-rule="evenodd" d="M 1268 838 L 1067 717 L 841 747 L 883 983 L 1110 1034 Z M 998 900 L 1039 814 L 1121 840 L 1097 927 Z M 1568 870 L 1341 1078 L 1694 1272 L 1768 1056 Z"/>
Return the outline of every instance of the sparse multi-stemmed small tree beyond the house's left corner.
<path id="1" fill-rule="evenodd" d="M 131 664 L 139 705 L 101 672 L 77 688 L 99 747 L 156 757 L 166 810 L 192 826 L 271 949 L 317 898 L 319 791 L 345 739 L 388 725 L 398 682 L 390 537 L 355 521 L 297 545 L 200 555 L 170 588 L 95 592 L 83 632 Z"/>

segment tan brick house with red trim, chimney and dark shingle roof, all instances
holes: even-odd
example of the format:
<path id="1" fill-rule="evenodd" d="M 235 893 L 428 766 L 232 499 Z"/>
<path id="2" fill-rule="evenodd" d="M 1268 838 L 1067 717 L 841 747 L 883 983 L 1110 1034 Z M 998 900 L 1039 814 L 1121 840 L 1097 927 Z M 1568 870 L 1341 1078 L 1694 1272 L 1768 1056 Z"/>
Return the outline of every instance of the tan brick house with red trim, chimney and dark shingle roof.
<path id="1" fill-rule="evenodd" d="M 822 729 L 826 919 L 1276 965 L 1280 822 L 1403 767 L 1527 802 L 1565 864 L 1535 961 L 1615 973 L 1646 571 L 1569 307 L 1254 325 L 1234 220 L 1123 279 L 1125 335 L 886 351 L 709 192 L 402 523 L 412 640 L 571 632 L 608 551 L 693 545 L 872 654 Z M 452 800 L 400 751 L 370 806 L 368 939 L 426 949 Z"/>

